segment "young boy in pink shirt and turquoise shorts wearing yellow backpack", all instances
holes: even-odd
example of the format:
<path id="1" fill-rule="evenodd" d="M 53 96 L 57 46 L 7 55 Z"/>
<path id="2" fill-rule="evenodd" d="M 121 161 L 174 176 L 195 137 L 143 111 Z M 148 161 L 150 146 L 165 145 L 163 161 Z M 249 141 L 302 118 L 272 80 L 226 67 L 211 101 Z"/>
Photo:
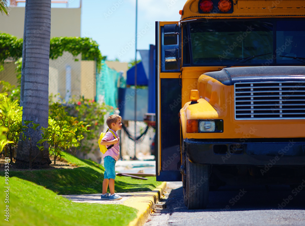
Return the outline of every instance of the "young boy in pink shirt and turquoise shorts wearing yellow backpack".
<path id="1" fill-rule="evenodd" d="M 106 132 L 105 136 L 103 137 L 101 141 L 101 145 L 106 145 L 106 147 L 111 146 L 113 147 L 108 149 L 106 153 L 104 154 L 104 167 L 105 167 L 105 173 L 104 173 L 104 181 L 103 181 L 103 193 L 101 195 L 102 200 L 120 200 L 122 199 L 121 196 L 119 196 L 117 193 L 114 193 L 114 180 L 115 180 L 115 164 L 117 160 L 119 159 L 119 136 L 117 136 L 117 131 L 119 129 L 122 129 L 122 117 L 120 115 L 110 115 L 107 118 L 107 125 L 109 127 L 109 130 L 112 130 L 117 138 L 115 138 L 112 134 L 112 132 L 108 131 Z M 109 184 L 109 190 L 110 193 L 106 193 L 108 189 Z"/>

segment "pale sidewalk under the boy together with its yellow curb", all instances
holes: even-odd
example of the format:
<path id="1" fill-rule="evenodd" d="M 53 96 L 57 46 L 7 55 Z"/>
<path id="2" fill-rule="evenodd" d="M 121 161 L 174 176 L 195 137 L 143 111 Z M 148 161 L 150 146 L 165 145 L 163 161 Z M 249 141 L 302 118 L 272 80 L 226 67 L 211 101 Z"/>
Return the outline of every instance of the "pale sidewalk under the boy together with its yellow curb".
<path id="1" fill-rule="evenodd" d="M 90 195 L 63 195 L 67 199 L 78 203 L 116 204 L 133 207 L 138 210 L 137 217 L 128 226 L 142 226 L 147 221 L 153 205 L 158 203 L 166 189 L 166 182 L 156 187 L 153 191 L 117 193 L 121 200 L 101 200 L 101 194 Z"/>

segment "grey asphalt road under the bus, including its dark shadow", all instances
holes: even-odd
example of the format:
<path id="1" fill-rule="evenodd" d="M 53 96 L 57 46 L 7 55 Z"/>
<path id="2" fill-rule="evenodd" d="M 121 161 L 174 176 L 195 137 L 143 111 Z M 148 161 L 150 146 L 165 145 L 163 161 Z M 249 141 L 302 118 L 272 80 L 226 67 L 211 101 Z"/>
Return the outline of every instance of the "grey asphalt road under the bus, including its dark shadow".
<path id="1" fill-rule="evenodd" d="M 305 225 L 305 183 L 289 186 L 221 187 L 210 192 L 204 210 L 188 210 L 182 182 L 167 182 L 163 202 L 145 226 L 159 225 Z"/>

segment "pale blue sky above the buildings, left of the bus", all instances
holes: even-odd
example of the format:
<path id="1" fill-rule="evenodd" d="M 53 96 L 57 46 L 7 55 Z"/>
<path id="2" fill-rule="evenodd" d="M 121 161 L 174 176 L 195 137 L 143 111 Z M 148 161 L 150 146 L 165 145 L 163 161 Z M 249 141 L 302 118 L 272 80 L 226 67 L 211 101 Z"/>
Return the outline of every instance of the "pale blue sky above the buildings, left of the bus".
<path id="1" fill-rule="evenodd" d="M 82 0 L 81 37 L 91 37 L 108 60 L 135 59 L 136 0 Z M 179 10 L 186 0 L 138 0 L 138 49 L 155 44 L 155 21 L 179 21 Z M 22 6 L 24 3 L 18 5 Z M 79 7 L 80 0 L 69 0 Z M 52 7 L 65 7 L 52 4 Z M 139 59 L 139 54 L 138 57 Z"/>

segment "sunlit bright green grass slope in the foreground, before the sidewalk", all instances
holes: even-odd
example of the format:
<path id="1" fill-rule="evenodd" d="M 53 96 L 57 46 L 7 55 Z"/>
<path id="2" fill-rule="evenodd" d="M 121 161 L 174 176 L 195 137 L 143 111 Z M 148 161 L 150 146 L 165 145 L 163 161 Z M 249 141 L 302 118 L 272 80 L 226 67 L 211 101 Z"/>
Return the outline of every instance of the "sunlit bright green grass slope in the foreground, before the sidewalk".
<path id="1" fill-rule="evenodd" d="M 0 176 L 1 184 L 4 177 Z M 1 225 L 83 226 L 128 225 L 137 210 L 123 205 L 73 203 L 51 190 L 20 178 L 9 178 L 9 203 L 0 192 L 0 209 L 9 205 L 9 222 L 2 211 Z M 3 213 L 4 212 L 4 213 Z"/>

